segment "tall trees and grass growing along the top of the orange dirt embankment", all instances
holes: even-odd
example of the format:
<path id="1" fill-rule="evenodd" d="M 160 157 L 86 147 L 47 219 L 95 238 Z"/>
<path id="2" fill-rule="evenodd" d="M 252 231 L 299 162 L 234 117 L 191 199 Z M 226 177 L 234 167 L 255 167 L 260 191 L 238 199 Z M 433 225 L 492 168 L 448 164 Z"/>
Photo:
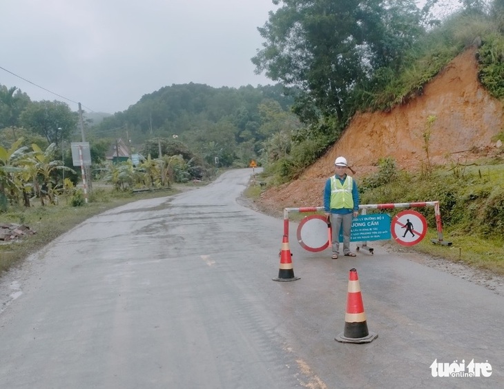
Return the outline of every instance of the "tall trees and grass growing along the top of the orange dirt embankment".
<path id="1" fill-rule="evenodd" d="M 298 177 L 338 140 L 356 112 L 390 110 L 422 94 L 469 47 L 477 50 L 483 86 L 504 97 L 502 0 L 461 1 L 461 9 L 443 21 L 430 12 L 434 1 L 422 10 L 409 0 L 280 3 L 260 29 L 265 47 L 253 63 L 295 91 L 293 112 L 305 127 L 291 137 L 296 152 L 266 166 L 275 181 Z M 428 147 L 428 128 L 424 135 Z"/>

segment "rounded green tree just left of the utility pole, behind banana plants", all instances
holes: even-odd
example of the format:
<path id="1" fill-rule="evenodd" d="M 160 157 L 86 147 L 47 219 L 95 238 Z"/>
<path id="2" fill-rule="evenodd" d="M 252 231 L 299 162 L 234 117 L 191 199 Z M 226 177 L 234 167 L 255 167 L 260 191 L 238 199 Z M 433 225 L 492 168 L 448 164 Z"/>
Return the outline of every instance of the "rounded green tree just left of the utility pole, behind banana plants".
<path id="1" fill-rule="evenodd" d="M 60 144 L 68 139 L 78 121 L 77 112 L 72 112 L 61 101 L 35 101 L 21 113 L 21 124 L 46 137 L 48 143 Z"/>

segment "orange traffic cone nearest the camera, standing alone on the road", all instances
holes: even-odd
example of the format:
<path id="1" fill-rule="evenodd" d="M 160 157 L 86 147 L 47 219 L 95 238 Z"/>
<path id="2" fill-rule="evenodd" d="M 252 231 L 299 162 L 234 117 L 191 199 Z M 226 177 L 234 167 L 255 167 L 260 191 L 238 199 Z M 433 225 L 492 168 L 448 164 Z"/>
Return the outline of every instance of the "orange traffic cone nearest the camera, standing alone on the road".
<path id="1" fill-rule="evenodd" d="M 360 294 L 359 277 L 356 269 L 350 269 L 348 277 L 347 313 L 345 314 L 345 330 L 336 337 L 342 343 L 369 343 L 378 334 L 367 330 L 366 314 L 362 295 Z"/>

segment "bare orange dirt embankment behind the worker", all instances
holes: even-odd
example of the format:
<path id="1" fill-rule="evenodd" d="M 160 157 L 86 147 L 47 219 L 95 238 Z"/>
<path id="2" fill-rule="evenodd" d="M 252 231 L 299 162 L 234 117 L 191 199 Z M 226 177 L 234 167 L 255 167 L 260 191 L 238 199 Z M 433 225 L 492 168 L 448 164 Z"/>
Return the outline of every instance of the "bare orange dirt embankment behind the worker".
<path id="1" fill-rule="evenodd" d="M 416 99 L 390 112 L 356 114 L 341 139 L 322 158 L 299 179 L 267 190 L 260 205 L 275 210 L 321 206 L 322 188 L 334 173 L 338 155 L 347 157 L 356 170 L 356 179 L 376 171 L 378 159 L 385 157 L 396 159 L 400 168 L 420 169 L 426 163 L 424 134 L 428 128 L 433 164 L 467 163 L 502 151 L 492 137 L 504 128 L 503 103 L 478 82 L 474 49 L 449 63 Z"/>

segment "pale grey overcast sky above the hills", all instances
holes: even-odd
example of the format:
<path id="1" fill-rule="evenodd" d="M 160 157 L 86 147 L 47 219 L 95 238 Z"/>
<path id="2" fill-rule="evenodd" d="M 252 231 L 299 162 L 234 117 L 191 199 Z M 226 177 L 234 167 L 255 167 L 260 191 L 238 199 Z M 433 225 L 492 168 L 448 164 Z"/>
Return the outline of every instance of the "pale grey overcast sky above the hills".
<path id="1" fill-rule="evenodd" d="M 0 67 L 88 112 L 126 110 L 173 83 L 266 85 L 251 58 L 270 10 L 271 0 L 0 0 Z M 6 70 L 0 84 L 78 109 Z"/>

